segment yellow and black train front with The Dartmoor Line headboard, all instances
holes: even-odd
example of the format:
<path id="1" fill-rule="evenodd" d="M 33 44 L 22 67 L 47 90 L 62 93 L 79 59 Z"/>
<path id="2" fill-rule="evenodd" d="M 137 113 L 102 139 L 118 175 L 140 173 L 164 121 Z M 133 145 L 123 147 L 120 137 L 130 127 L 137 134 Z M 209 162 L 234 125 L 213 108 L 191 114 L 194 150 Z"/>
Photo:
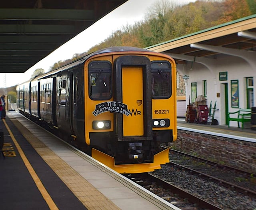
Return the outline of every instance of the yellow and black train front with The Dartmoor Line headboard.
<path id="1" fill-rule="evenodd" d="M 176 67 L 151 52 L 96 54 L 84 63 L 85 140 L 92 157 L 119 173 L 169 162 L 176 140 Z"/>

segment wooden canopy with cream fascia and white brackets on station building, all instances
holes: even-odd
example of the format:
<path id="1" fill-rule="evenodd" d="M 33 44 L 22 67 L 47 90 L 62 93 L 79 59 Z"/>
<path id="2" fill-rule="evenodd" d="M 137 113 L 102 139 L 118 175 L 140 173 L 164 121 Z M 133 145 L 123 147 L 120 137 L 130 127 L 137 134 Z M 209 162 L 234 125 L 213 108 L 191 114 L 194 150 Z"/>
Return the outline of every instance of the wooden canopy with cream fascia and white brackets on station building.
<path id="1" fill-rule="evenodd" d="M 216 62 L 220 54 L 239 56 L 253 62 L 256 55 L 256 15 L 168 40 L 147 49 L 170 55 L 176 64 L 200 62 L 208 65 L 214 60 Z"/>

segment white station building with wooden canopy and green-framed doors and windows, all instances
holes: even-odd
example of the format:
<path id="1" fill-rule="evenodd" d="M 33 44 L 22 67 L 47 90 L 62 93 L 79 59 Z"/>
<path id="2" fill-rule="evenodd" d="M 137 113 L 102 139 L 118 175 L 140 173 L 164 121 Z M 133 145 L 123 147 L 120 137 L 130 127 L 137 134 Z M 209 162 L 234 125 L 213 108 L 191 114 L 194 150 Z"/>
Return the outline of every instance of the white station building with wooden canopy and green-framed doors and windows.
<path id="1" fill-rule="evenodd" d="M 186 105 L 204 96 L 214 119 L 228 124 L 228 112 L 256 106 L 256 15 L 221 24 L 147 48 L 174 58 L 177 98 Z M 186 107 L 186 106 L 178 106 Z M 183 108 L 184 109 L 184 108 Z M 178 109 L 178 117 L 186 110 Z M 238 126 L 230 121 L 230 126 Z M 250 128 L 250 123 L 245 128 Z"/>

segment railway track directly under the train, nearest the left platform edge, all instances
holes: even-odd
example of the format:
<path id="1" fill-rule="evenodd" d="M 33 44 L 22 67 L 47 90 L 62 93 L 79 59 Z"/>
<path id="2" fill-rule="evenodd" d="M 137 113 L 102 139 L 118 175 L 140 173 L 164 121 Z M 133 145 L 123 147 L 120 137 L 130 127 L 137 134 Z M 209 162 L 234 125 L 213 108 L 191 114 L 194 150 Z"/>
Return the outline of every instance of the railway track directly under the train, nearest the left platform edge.
<path id="1" fill-rule="evenodd" d="M 174 186 L 152 174 L 129 174 L 125 175 L 140 186 L 150 190 L 154 194 L 174 204 L 178 208 L 186 210 L 222 210 L 222 208 L 195 196 L 186 190 Z"/>

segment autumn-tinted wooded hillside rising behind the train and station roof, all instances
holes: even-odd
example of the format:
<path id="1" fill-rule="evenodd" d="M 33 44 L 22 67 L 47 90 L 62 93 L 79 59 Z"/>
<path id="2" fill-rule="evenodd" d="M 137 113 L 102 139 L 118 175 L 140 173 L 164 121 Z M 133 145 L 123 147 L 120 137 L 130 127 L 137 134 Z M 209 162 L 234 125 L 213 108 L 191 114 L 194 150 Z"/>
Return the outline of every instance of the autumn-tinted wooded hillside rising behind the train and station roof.
<path id="1" fill-rule="evenodd" d="M 150 5 L 144 20 L 122 26 L 87 52 L 58 61 L 51 69 L 110 46 L 145 48 L 251 14 L 256 14 L 256 0 L 197 0 L 183 5 L 175 1 L 158 0 Z"/>

